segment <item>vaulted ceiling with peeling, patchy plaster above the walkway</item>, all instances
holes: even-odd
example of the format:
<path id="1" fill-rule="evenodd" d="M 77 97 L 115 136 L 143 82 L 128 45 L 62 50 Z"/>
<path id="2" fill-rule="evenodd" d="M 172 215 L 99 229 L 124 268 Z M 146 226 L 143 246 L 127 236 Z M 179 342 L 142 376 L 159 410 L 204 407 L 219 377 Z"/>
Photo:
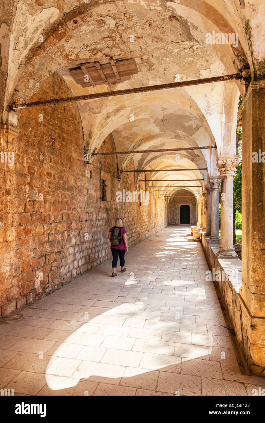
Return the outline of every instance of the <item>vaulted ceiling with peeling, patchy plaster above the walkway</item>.
<path id="1" fill-rule="evenodd" d="M 246 68 L 252 78 L 262 76 L 262 1 L 11 3 L 8 9 L 6 2 L 0 27 L 5 105 L 29 100 L 54 72 L 73 95 L 234 74 Z M 238 34 L 238 45 L 208 44 L 206 34 L 213 31 Z M 110 58 L 135 58 L 138 74 L 111 88 L 81 88 L 70 75 L 74 65 L 96 60 L 104 64 Z M 130 159 L 139 170 L 206 168 L 178 172 L 178 179 L 203 178 L 204 184 L 196 184 L 204 187 L 209 175 L 218 174 L 217 157 L 235 154 L 240 92 L 245 93 L 243 83 L 228 81 L 77 102 L 84 146 L 95 151 L 110 133 L 116 151 L 216 146 L 178 152 L 179 156 L 174 152 L 118 156 L 120 170 Z M 14 125 L 14 115 L 3 113 L 3 120 Z M 140 174 L 135 174 L 136 184 Z M 170 171 L 159 177 L 148 175 L 149 179 L 177 179 Z"/>

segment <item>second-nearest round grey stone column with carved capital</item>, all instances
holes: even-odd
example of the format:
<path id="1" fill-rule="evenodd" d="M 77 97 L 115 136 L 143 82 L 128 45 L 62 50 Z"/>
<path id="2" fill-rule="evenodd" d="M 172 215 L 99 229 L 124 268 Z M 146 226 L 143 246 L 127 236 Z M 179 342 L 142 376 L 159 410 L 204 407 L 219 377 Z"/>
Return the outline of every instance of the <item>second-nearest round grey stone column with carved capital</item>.
<path id="1" fill-rule="evenodd" d="M 210 176 L 211 185 L 211 239 L 210 242 L 219 242 L 219 185 L 220 176 Z"/>

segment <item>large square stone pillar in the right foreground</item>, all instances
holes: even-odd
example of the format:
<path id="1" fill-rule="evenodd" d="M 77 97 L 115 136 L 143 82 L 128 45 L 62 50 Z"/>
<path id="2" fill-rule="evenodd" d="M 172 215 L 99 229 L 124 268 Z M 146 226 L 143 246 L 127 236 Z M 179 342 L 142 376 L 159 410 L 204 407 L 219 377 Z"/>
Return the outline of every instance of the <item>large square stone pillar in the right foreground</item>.
<path id="1" fill-rule="evenodd" d="M 242 114 L 241 349 L 265 376 L 265 80 L 251 82 Z"/>

